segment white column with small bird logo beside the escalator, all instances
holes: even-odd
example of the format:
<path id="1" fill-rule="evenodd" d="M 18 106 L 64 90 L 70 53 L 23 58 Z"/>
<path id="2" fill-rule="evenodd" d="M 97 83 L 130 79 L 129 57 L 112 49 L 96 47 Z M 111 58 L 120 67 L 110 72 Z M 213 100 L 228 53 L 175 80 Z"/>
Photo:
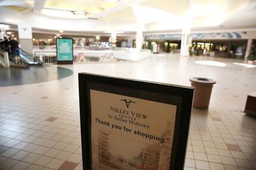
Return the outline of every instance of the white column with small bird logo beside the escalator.
<path id="1" fill-rule="evenodd" d="M 29 24 L 18 24 L 18 39 L 21 49 L 27 53 L 33 53 L 32 27 Z"/>

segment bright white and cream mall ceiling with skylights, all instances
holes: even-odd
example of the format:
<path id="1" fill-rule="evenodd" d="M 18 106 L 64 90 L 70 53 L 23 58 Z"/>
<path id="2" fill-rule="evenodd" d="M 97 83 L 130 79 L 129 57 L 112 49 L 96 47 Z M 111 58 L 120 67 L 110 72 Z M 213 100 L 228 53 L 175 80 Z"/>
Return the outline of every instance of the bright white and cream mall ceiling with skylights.
<path id="1" fill-rule="evenodd" d="M 82 33 L 255 28 L 256 0 L 0 0 L 0 23 Z"/>

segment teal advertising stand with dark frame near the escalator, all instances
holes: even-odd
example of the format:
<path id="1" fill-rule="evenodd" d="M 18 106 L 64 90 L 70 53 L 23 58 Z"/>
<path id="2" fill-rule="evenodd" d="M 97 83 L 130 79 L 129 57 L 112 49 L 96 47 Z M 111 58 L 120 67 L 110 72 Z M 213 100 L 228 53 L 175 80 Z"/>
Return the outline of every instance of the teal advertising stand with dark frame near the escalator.
<path id="1" fill-rule="evenodd" d="M 73 39 L 58 38 L 56 44 L 58 65 L 73 64 Z"/>

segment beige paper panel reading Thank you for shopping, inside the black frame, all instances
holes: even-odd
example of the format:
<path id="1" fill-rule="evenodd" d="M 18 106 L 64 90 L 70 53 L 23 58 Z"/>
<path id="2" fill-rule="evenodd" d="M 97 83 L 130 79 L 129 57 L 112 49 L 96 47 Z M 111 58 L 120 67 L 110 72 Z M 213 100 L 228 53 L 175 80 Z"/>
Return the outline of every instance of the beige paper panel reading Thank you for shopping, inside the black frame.
<path id="1" fill-rule="evenodd" d="M 166 170 L 176 105 L 90 89 L 93 169 Z"/>

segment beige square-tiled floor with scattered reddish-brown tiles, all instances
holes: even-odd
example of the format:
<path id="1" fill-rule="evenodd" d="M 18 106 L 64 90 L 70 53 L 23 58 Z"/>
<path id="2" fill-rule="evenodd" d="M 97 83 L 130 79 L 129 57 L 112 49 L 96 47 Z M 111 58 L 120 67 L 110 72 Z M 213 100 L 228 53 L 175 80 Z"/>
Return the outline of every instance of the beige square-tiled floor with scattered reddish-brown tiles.
<path id="1" fill-rule="evenodd" d="M 243 113 L 246 96 L 256 91 L 256 68 L 233 64 L 242 62 L 154 55 L 65 65 L 74 72 L 67 78 L 0 87 L 0 169 L 82 169 L 78 72 L 188 86 L 194 76 L 216 80 L 209 109 L 193 108 L 185 169 L 256 169 L 256 118 Z"/>

